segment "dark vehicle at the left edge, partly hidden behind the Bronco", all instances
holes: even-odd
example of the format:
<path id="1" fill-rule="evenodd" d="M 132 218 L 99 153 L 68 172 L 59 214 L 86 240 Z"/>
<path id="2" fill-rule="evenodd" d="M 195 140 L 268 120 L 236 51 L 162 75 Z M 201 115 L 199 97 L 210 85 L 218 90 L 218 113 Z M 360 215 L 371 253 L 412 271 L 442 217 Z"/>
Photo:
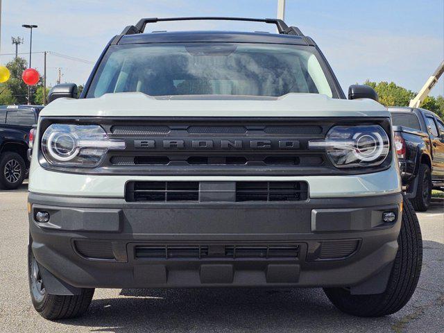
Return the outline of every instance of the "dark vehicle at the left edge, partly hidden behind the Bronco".
<path id="1" fill-rule="evenodd" d="M 17 189 L 26 178 L 29 133 L 42 105 L 0 105 L 0 189 Z"/>

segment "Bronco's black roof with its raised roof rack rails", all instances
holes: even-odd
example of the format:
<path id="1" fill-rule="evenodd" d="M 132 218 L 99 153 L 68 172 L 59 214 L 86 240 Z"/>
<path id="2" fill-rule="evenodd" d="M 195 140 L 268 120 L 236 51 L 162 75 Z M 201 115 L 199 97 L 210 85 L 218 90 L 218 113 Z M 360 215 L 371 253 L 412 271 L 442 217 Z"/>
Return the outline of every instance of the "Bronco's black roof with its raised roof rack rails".
<path id="1" fill-rule="evenodd" d="M 156 22 L 188 21 L 188 20 L 219 20 L 263 22 L 273 24 L 278 33 L 233 32 L 233 31 L 179 31 L 144 33 L 146 24 Z M 281 19 L 251 19 L 246 17 L 176 17 L 140 19 L 134 26 L 127 26 L 111 44 L 139 44 L 155 42 L 259 42 L 273 44 L 316 45 L 310 37 L 305 36 L 296 26 L 287 26 Z"/>

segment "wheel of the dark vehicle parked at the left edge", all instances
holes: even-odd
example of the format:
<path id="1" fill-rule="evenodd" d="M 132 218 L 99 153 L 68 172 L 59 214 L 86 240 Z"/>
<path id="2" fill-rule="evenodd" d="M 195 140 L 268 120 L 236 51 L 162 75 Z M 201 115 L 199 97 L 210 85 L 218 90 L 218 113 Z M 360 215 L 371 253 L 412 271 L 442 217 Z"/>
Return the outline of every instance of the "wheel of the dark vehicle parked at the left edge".
<path id="1" fill-rule="evenodd" d="M 6 152 L 0 156 L 0 188 L 17 189 L 22 185 L 26 173 L 26 164 L 22 156 Z"/>

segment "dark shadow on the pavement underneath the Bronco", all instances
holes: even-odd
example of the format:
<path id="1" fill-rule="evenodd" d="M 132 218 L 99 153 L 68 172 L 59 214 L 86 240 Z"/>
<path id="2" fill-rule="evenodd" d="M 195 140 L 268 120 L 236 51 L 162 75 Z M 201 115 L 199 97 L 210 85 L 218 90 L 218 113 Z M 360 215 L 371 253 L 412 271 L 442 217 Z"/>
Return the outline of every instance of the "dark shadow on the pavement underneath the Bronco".
<path id="1" fill-rule="evenodd" d="M 322 289 L 122 289 L 120 294 L 124 297 L 93 300 L 85 316 L 62 323 L 96 327 L 92 332 L 289 332 L 329 330 L 332 321 L 352 318 L 330 305 Z"/>

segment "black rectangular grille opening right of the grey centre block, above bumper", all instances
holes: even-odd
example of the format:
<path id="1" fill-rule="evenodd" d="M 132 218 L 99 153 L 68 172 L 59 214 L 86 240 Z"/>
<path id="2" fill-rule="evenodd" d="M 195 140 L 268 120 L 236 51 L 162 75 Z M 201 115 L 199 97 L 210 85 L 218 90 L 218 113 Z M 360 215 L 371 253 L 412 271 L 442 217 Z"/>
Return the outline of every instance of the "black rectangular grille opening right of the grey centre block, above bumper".
<path id="1" fill-rule="evenodd" d="M 299 201 L 307 197 L 307 182 L 236 183 L 236 201 Z"/>

